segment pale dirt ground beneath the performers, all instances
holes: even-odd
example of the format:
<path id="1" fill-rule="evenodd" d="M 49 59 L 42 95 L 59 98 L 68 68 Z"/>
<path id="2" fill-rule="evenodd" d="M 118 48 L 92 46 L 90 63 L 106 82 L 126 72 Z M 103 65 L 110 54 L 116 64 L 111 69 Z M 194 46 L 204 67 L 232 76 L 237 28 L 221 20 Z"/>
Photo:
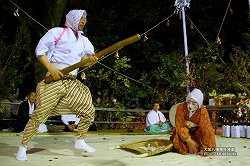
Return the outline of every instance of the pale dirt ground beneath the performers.
<path id="1" fill-rule="evenodd" d="M 250 139 L 224 138 L 216 136 L 217 147 L 233 147 L 236 156 L 180 155 L 175 152 L 160 155 L 133 158 L 135 153 L 124 149 L 112 149 L 125 143 L 147 139 L 169 139 L 168 134 L 145 133 L 108 133 L 89 132 L 85 141 L 96 148 L 96 153 L 83 156 L 80 150 L 74 149 L 75 137 L 66 133 L 36 134 L 29 143 L 28 161 L 15 159 L 22 134 L 0 132 L 0 165 L 1 166 L 171 166 L 171 165 L 249 165 Z"/>

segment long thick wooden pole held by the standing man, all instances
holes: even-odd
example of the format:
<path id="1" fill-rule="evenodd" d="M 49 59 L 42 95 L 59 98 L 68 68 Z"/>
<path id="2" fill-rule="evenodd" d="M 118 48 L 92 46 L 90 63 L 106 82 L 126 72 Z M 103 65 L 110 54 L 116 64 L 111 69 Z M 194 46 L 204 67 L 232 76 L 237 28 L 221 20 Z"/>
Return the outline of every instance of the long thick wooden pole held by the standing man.
<path id="1" fill-rule="evenodd" d="M 108 48 L 103 49 L 102 51 L 99 51 L 98 53 L 95 54 L 95 56 L 100 59 L 104 55 L 106 55 L 108 53 L 111 53 L 111 52 L 113 52 L 115 50 L 118 50 L 118 49 L 120 49 L 120 48 L 122 48 L 124 46 L 129 45 L 129 44 L 132 44 L 132 43 L 134 43 L 134 42 L 136 42 L 136 41 L 138 41 L 140 39 L 141 39 L 141 36 L 139 34 L 136 34 L 136 35 L 131 36 L 131 37 L 127 38 L 127 39 L 119 41 L 119 42 L 109 46 Z M 73 65 L 71 65 L 69 67 L 66 67 L 66 68 L 64 68 L 64 69 L 62 69 L 60 71 L 63 73 L 63 75 L 67 75 L 71 71 L 73 71 L 73 70 L 75 70 L 75 69 L 77 69 L 79 67 L 82 67 L 82 66 L 84 66 L 84 65 L 86 65 L 87 63 L 90 63 L 90 62 L 91 61 L 89 60 L 89 58 L 83 59 L 80 62 L 75 63 L 75 64 L 73 64 Z M 48 83 L 51 83 L 51 82 L 57 81 L 57 80 L 53 80 L 52 76 L 49 75 L 49 76 L 45 77 L 44 81 L 45 81 L 45 83 L 48 84 Z"/>

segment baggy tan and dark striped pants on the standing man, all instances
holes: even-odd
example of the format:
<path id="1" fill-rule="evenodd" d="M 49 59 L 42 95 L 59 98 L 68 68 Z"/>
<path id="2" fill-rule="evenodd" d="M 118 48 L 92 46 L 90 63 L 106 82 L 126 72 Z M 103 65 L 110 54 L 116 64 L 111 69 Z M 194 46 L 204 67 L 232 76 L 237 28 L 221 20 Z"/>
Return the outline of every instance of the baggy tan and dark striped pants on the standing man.
<path id="1" fill-rule="evenodd" d="M 80 118 L 77 138 L 85 137 L 95 116 L 92 96 L 87 86 L 79 80 L 59 80 L 50 84 L 42 81 L 37 85 L 36 92 L 36 109 L 25 127 L 22 146 L 27 146 L 39 124 L 55 115 L 76 114 Z"/>

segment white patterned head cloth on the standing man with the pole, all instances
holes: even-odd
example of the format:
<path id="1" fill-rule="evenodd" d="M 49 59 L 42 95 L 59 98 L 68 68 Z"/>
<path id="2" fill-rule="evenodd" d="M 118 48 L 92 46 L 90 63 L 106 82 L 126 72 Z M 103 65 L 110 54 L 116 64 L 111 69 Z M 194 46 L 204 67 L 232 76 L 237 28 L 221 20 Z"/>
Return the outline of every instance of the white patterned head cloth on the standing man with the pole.
<path id="1" fill-rule="evenodd" d="M 66 15 L 65 26 L 71 27 L 76 32 L 79 32 L 78 24 L 80 22 L 80 19 L 82 16 L 86 16 L 86 15 L 87 15 L 87 12 L 85 10 L 71 10 L 71 11 L 69 11 L 68 14 Z"/>

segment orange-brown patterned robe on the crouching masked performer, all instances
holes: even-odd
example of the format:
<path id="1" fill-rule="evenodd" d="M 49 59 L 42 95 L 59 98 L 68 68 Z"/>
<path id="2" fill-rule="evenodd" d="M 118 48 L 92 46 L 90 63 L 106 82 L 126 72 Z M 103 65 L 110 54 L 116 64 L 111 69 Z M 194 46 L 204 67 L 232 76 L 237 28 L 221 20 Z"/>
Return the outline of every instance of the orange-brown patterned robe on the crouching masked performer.
<path id="1" fill-rule="evenodd" d="M 188 129 L 185 125 L 185 121 L 191 121 L 197 125 L 196 129 Z M 194 112 L 189 118 L 189 111 L 187 109 L 187 103 L 183 102 L 178 105 L 175 116 L 175 125 L 172 139 L 174 148 L 181 154 L 188 153 L 188 147 L 184 143 L 189 136 L 195 140 L 199 147 L 198 151 L 202 148 L 215 148 L 215 135 L 214 130 L 209 118 L 209 114 L 205 106 Z"/>

